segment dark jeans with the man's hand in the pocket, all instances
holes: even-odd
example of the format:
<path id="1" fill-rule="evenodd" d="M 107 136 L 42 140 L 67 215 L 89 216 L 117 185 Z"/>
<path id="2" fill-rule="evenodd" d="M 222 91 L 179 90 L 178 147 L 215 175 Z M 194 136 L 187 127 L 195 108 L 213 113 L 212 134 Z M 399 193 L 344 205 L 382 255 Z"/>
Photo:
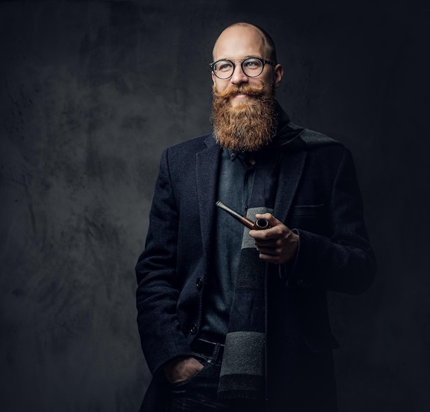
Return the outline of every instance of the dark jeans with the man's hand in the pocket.
<path id="1" fill-rule="evenodd" d="M 168 412 L 262 412 L 263 402 L 255 400 L 218 400 L 218 380 L 222 356 L 217 344 L 212 354 L 194 352 L 194 357 L 203 365 L 198 374 L 179 384 L 170 385 Z"/>

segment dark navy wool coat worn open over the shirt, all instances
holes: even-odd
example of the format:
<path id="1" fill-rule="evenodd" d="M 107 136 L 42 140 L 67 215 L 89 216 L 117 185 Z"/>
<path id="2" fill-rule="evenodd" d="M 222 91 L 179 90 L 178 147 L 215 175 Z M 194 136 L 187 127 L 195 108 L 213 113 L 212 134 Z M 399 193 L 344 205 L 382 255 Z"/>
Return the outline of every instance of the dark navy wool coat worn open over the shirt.
<path id="1" fill-rule="evenodd" d="M 299 234 L 294 262 L 272 265 L 275 300 L 270 334 L 296 334 L 314 352 L 337 343 L 330 331 L 327 291 L 366 290 L 376 264 L 367 239 L 350 151 L 296 128 L 300 144 L 282 156 L 273 216 Z M 211 275 L 220 147 L 213 135 L 164 150 L 150 210 L 146 247 L 136 266 L 137 323 L 155 380 L 161 366 L 191 356 Z M 155 407 L 146 409 L 155 410 Z"/>

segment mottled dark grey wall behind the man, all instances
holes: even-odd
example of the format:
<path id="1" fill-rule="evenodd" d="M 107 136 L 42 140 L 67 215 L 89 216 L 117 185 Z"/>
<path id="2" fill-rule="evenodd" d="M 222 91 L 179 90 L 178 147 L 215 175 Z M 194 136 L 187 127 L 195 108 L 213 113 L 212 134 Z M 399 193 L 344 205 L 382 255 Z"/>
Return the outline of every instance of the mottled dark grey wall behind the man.
<path id="1" fill-rule="evenodd" d="M 356 161 L 379 271 L 331 295 L 340 411 L 429 410 L 428 7 L 1 2 L 1 411 L 137 410 L 134 265 L 159 155 L 210 131 L 207 64 L 236 21 L 273 35 L 292 119 Z"/>

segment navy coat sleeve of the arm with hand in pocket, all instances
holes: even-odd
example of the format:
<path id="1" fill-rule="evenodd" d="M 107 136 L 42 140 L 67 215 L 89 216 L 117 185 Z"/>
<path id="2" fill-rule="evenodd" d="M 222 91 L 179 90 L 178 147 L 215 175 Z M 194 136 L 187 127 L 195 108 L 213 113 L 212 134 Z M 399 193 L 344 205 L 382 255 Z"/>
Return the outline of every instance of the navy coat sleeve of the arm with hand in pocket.
<path id="1" fill-rule="evenodd" d="M 145 249 L 137 260 L 137 325 L 152 374 L 179 356 L 191 356 L 177 319 L 179 214 L 172 189 L 168 149 L 161 155 Z"/>

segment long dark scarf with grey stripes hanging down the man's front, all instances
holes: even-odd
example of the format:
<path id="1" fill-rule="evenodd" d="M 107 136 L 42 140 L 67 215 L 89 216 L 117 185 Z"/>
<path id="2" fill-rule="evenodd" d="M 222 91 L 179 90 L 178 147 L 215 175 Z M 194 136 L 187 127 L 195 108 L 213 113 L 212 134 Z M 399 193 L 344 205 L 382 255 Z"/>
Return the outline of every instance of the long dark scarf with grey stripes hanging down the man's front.
<path id="1" fill-rule="evenodd" d="M 247 218 L 271 213 L 278 182 L 278 156 L 262 157 L 256 174 Z M 218 398 L 259 399 L 265 395 L 267 263 L 245 227 L 229 328 L 225 338 Z"/>

